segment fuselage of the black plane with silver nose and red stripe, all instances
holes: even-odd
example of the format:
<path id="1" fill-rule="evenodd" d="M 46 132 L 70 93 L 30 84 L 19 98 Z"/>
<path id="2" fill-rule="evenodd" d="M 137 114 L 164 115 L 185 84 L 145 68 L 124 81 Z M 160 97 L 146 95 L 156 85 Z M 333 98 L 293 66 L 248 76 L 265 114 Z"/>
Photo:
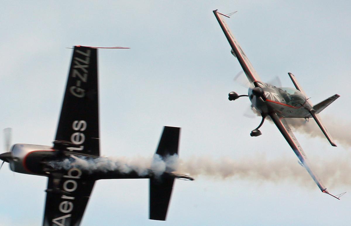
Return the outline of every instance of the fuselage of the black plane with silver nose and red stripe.
<path id="1" fill-rule="evenodd" d="M 84 158 L 84 161 L 94 161 L 94 159 L 98 159 L 98 156 L 72 153 L 70 151 L 58 151 L 51 146 L 14 144 L 11 149 L 11 155 L 12 160 L 9 161 L 10 169 L 16 173 L 39 176 L 50 176 L 52 174 L 69 175 L 69 172 L 75 169 L 75 176 L 79 174 L 80 178 L 86 177 L 89 180 L 155 177 L 151 169 L 146 169 L 143 173 L 138 173 L 135 170 L 90 169 L 79 164 L 69 164 L 70 162 L 74 162 L 73 157 Z M 67 162 L 65 166 L 62 164 L 64 162 Z M 60 166 L 55 166 L 55 163 L 60 163 Z"/>

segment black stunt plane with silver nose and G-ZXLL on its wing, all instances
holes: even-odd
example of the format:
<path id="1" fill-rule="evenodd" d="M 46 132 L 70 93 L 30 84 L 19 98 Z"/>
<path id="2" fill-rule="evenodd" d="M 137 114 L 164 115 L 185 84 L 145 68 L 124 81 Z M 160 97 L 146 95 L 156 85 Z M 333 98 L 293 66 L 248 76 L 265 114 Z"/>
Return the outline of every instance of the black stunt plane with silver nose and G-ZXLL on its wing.
<path id="1" fill-rule="evenodd" d="M 135 170 L 91 172 L 76 165 L 66 169 L 51 164 L 99 158 L 98 96 L 97 48 L 74 46 L 53 146 L 14 144 L 10 150 L 7 130 L 7 152 L 0 154 L 2 164 L 8 162 L 13 172 L 48 177 L 43 226 L 78 226 L 94 183 L 101 179 L 150 179 L 149 218 L 166 220 L 174 179 L 194 180 L 192 177 L 174 173 L 174 169 L 161 175 L 148 169 L 145 175 L 138 175 Z M 178 157 L 179 134 L 178 127 L 164 127 L 155 153 L 160 159 Z"/>

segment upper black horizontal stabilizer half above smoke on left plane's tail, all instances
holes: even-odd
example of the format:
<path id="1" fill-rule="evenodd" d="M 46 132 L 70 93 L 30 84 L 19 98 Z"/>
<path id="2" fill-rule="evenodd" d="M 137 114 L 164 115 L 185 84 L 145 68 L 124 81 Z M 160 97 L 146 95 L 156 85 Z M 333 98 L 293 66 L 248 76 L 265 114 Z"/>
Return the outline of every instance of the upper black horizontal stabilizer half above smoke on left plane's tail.
<path id="1" fill-rule="evenodd" d="M 160 155 L 162 159 L 166 158 L 167 156 L 178 154 L 179 133 L 179 127 L 165 126 L 156 150 L 156 154 Z"/>

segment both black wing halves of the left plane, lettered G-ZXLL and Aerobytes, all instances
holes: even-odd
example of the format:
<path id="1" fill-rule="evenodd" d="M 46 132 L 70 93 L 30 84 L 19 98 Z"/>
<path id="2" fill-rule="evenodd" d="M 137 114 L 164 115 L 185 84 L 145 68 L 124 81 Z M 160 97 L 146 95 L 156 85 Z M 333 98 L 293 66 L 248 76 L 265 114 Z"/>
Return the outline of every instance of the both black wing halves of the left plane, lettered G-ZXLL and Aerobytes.
<path id="1" fill-rule="evenodd" d="M 99 156 L 97 49 L 75 46 L 62 103 L 54 149 Z M 72 147 L 70 147 L 72 146 Z M 95 180 L 80 178 L 79 169 L 48 177 L 44 226 L 78 226 Z"/>

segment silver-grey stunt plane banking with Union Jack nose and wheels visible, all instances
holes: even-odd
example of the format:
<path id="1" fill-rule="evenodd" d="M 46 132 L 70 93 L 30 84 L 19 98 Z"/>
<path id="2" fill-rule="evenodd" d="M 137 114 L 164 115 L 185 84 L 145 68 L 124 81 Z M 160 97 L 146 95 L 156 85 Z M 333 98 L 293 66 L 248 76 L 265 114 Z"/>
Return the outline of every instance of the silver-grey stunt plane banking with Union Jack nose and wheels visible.
<path id="1" fill-rule="evenodd" d="M 225 17 L 230 17 L 218 12 L 217 9 L 214 10 L 213 13 L 217 18 L 217 21 L 222 28 L 225 37 L 229 41 L 230 46 L 232 47 L 231 53 L 238 59 L 250 83 L 248 95 L 238 95 L 236 92 L 230 92 L 228 94 L 228 99 L 230 101 L 234 101 L 239 97 L 249 97 L 252 106 L 256 108 L 262 116 L 261 123 L 256 129 L 251 131 L 250 136 L 259 136 L 262 134 L 259 128 L 263 125 L 265 118 L 269 116 L 274 124 L 276 124 L 278 127 L 280 133 L 283 134 L 285 140 L 290 145 L 294 153 L 297 155 L 299 164 L 306 168 L 307 172 L 310 174 L 319 189 L 323 193 L 340 199 L 340 197 L 345 193 L 332 195 L 327 191 L 327 188 L 324 187 L 318 176 L 312 171 L 310 163 L 307 161 L 305 152 L 303 151 L 301 145 L 297 141 L 296 137 L 292 133 L 292 130 L 285 120 L 285 118 L 305 118 L 308 120 L 312 117 L 330 144 L 336 147 L 335 142 L 323 125 L 322 120 L 318 114 L 332 102 L 334 102 L 337 98 L 339 98 L 339 95 L 335 94 L 316 105 L 312 105 L 312 103 L 309 101 L 309 98 L 307 98 L 306 93 L 297 82 L 295 76 L 290 72 L 288 74 L 296 89 L 278 88 L 274 85 L 262 82 L 249 59 L 246 57 L 243 49 L 241 49 L 240 45 L 238 44 L 238 41 L 230 32 L 224 20 Z"/>

